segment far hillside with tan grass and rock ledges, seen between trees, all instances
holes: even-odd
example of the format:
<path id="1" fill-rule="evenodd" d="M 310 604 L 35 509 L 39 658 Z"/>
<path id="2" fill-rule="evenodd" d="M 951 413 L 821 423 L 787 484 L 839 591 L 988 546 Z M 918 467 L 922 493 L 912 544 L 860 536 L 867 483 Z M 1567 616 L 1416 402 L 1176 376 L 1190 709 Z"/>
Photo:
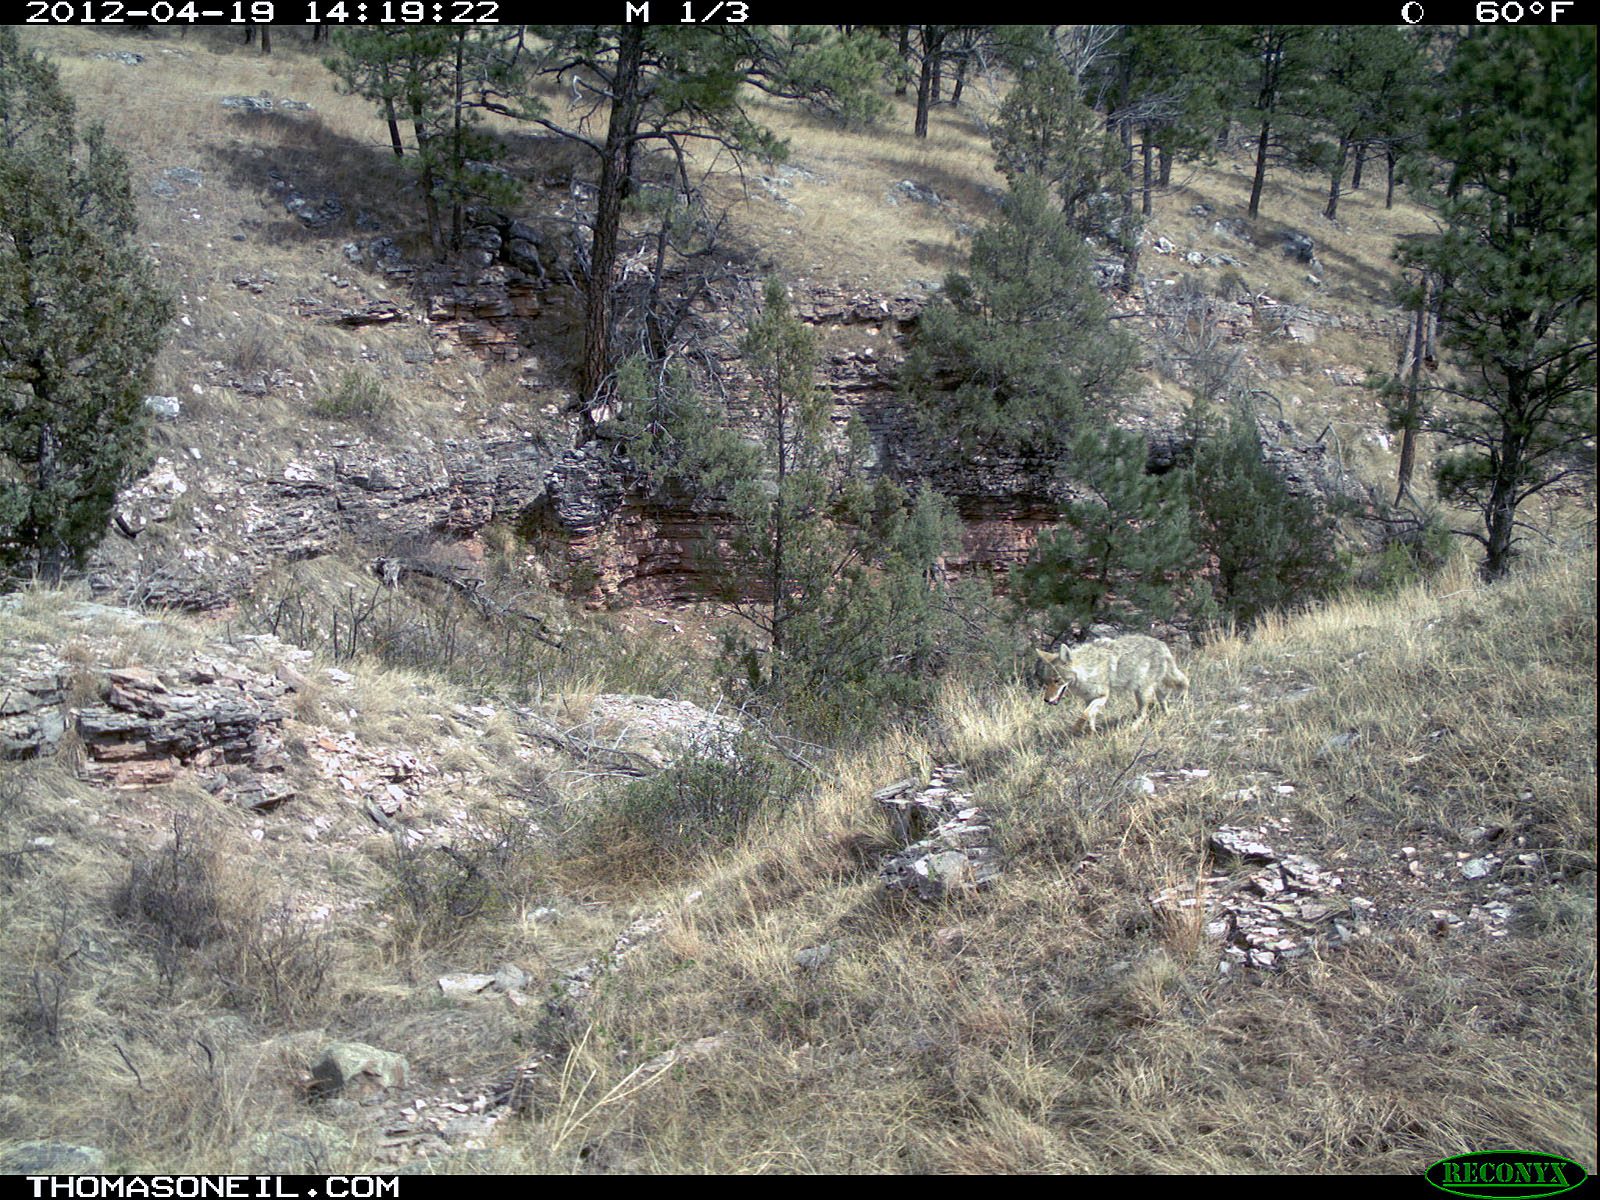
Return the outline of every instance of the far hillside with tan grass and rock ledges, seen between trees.
<path id="1" fill-rule="evenodd" d="M 494 544 L 496 526 L 515 525 L 536 536 L 539 582 L 606 602 L 704 595 L 693 514 L 611 494 L 603 464 L 574 448 L 592 163 L 493 125 L 525 182 L 515 229 L 475 229 L 483 246 L 435 267 L 414 174 L 371 106 L 336 93 L 320 46 L 280 37 L 261 56 L 235 37 L 27 30 L 82 115 L 128 150 L 142 237 L 178 302 L 152 379 L 165 397 L 157 461 L 118 507 L 91 568 L 96 594 L 226 610 L 293 590 L 285 563 L 366 571 L 381 555 L 458 571 L 490 558 L 526 574 L 526 550 Z M 938 478 L 912 448 L 894 381 L 907 323 L 1003 195 L 984 123 L 994 86 L 974 80 L 926 141 L 907 136 L 899 112 L 846 133 L 758 102 L 790 157 L 742 171 L 701 163 L 706 226 L 718 232 L 670 277 L 690 307 L 686 355 L 720 363 L 722 390 L 744 394 L 738 338 L 776 270 L 819 336 L 835 424 L 864 416 L 875 461 L 902 482 Z M 547 99 L 565 112 L 565 96 Z M 1157 198 L 1141 280 L 1122 302 L 1144 347 L 1122 419 L 1171 430 L 1200 387 L 1197 357 L 1216 357 L 1250 381 L 1274 437 L 1304 446 L 1301 478 L 1387 488 L 1395 446 L 1363 382 L 1395 363 L 1390 251 L 1427 216 L 1403 198 L 1387 210 L 1368 187 L 1333 224 L 1318 216 L 1318 181 L 1280 173 L 1262 218 L 1245 222 L 1246 158 L 1224 150 Z M 528 245 L 520 235 L 538 242 L 536 267 L 512 250 Z M 1306 245 L 1310 264 L 1296 258 Z M 1202 296 L 1208 347 L 1189 342 L 1184 307 Z M 957 562 L 1026 557 L 1054 517 L 1053 472 L 957 474 L 941 480 L 966 520 Z"/>

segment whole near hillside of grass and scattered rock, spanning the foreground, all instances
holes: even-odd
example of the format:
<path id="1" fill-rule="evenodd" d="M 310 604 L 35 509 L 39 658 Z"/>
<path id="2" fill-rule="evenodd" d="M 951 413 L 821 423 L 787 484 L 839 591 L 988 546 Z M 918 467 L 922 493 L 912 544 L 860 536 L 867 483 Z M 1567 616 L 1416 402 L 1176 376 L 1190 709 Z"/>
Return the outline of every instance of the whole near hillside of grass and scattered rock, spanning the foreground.
<path id="1" fill-rule="evenodd" d="M 0 768 L 8 1162 L 38 1142 L 234 1171 L 1594 1162 L 1592 571 L 1218 642 L 1142 730 L 1126 701 L 1088 738 L 1037 693 L 952 690 L 933 723 L 766 792 L 760 738 L 720 774 L 682 758 L 683 730 L 722 728 L 691 706 L 674 741 L 651 701 L 475 704 L 14 597 L 0 643 L 64 659 L 77 733 Z M 171 709 L 162 688 L 197 670 L 270 693 L 261 754 L 178 752 L 170 782 L 115 790 L 126 757 L 82 714 Z M 1005 874 L 928 904 L 880 883 L 898 843 L 872 795 L 934 768 L 989 814 Z M 646 794 L 773 798 L 706 858 L 674 835 L 691 808 L 606 834 Z M 339 1042 L 408 1078 L 318 1094 Z"/>

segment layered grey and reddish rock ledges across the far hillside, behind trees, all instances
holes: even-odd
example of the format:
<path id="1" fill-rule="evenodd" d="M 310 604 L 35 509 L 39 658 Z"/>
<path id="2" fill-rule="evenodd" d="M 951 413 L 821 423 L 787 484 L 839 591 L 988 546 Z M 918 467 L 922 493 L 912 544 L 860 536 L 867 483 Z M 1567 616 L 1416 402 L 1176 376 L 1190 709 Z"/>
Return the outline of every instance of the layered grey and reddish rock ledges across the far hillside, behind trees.
<path id="1" fill-rule="evenodd" d="M 421 306 L 451 355 L 504 362 L 507 347 L 528 336 L 520 293 L 491 294 L 507 278 L 528 283 L 525 272 L 488 262 L 470 277 L 470 304 L 461 301 L 462 280 L 453 280 L 445 299 Z M 795 314 L 818 333 L 818 386 L 835 400 L 840 437 L 859 418 L 872 435 L 869 469 L 907 486 L 928 480 L 954 501 L 966 530 L 949 568 L 1000 574 L 1024 562 L 1056 522 L 1067 486 L 1048 461 L 952 456 L 930 445 L 898 390 L 904 339 L 923 302 L 814 286 L 797 288 Z M 725 392 L 738 397 L 749 394 L 749 379 L 736 349 L 742 322 L 730 315 L 738 315 L 733 296 L 704 307 L 702 344 L 720 360 Z M 734 419 L 742 419 L 738 408 Z M 1176 434 L 1146 434 L 1152 470 L 1171 466 L 1181 454 Z M 542 549 L 578 597 L 709 598 L 707 560 L 726 536 L 726 514 L 715 501 L 645 491 L 622 445 L 578 442 L 578 422 L 565 419 L 539 434 L 498 429 L 448 440 L 339 430 L 275 456 L 282 466 L 270 469 L 248 448 L 203 461 L 163 458 L 122 496 L 90 584 L 125 602 L 221 610 L 278 563 L 336 549 L 376 560 L 440 544 L 472 557 L 475 538 L 499 522 Z M 1296 440 L 1288 426 L 1269 442 L 1296 488 L 1322 496 L 1347 490 L 1323 445 Z"/>

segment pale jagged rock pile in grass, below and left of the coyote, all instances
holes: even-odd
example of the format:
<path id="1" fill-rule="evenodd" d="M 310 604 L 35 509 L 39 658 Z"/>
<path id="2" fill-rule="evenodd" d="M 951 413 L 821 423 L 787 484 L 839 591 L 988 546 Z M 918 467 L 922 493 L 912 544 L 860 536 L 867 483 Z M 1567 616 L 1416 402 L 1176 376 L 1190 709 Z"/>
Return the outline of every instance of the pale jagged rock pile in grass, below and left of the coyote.
<path id="1" fill-rule="evenodd" d="M 938 901 L 984 888 L 1000 875 L 989 816 L 955 787 L 965 781 L 966 771 L 952 763 L 934 768 L 926 784 L 901 779 L 872 794 L 902 843 L 878 867 L 885 888 Z"/>

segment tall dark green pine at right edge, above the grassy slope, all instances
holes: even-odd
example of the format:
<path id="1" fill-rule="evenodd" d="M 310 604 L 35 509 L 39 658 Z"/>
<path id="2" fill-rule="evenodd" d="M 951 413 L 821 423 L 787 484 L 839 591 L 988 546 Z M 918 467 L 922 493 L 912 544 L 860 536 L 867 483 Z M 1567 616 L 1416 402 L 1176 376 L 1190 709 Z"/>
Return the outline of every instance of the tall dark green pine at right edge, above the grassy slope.
<path id="1" fill-rule="evenodd" d="M 1494 579 L 1515 555 L 1518 506 L 1594 470 L 1594 26 L 1477 30 L 1440 94 L 1427 142 L 1445 230 L 1402 261 L 1440 282 L 1456 378 L 1435 386 L 1426 429 L 1450 448 L 1440 494 L 1482 515 L 1482 533 L 1459 533 Z M 1416 285 L 1402 298 L 1427 302 Z"/>

